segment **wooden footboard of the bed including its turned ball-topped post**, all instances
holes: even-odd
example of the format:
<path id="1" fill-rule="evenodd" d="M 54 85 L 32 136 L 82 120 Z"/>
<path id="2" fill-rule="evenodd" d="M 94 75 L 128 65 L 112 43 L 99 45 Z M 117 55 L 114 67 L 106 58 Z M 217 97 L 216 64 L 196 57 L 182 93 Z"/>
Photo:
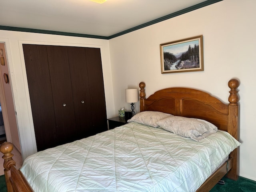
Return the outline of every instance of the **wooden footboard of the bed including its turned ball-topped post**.
<path id="1" fill-rule="evenodd" d="M 8 192 L 34 192 L 22 172 L 16 168 L 16 162 L 12 159 L 13 144 L 4 142 L 0 146 L 0 152 L 4 154 L 4 176 Z"/>

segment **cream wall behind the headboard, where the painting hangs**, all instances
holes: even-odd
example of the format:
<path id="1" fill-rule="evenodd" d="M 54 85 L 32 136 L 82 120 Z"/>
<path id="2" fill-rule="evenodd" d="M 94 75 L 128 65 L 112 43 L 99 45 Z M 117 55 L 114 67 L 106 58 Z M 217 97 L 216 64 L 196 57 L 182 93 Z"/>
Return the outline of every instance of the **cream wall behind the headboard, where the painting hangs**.
<path id="1" fill-rule="evenodd" d="M 256 1 L 224 0 L 109 41 L 115 114 L 124 90 L 146 83 L 146 94 L 170 86 L 206 90 L 228 102 L 228 80 L 240 80 L 240 176 L 256 180 Z M 160 44 L 203 35 L 204 71 L 161 74 Z M 137 112 L 139 102 L 136 103 Z"/>

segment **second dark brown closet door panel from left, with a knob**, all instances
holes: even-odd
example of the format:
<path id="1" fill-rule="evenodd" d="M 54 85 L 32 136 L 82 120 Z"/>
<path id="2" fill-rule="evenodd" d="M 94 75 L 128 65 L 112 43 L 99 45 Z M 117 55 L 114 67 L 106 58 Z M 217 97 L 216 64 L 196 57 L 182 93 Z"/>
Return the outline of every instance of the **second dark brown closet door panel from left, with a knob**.
<path id="1" fill-rule="evenodd" d="M 46 49 L 58 138 L 56 144 L 59 145 L 72 141 L 76 134 L 68 52 L 64 46 L 47 46 Z"/>

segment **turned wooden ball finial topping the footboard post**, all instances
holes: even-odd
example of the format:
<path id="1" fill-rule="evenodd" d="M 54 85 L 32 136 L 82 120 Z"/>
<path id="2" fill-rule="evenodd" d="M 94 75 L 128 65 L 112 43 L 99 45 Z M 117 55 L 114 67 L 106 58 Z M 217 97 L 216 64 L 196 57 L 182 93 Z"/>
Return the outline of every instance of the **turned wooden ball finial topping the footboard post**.
<path id="1" fill-rule="evenodd" d="M 11 165 L 16 166 L 15 161 L 12 159 L 13 144 L 10 142 L 4 142 L 0 146 L 0 152 L 4 154 L 2 158 L 4 159 L 4 169 L 9 170 Z"/>

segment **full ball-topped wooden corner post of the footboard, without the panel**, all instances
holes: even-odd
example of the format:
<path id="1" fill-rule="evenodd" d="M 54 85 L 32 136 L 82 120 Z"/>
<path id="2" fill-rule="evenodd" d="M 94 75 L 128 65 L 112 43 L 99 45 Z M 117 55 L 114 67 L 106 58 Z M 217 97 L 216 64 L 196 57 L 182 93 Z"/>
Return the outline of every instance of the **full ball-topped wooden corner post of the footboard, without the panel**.
<path id="1" fill-rule="evenodd" d="M 10 182 L 11 177 L 11 166 L 16 166 L 16 162 L 12 159 L 13 154 L 13 144 L 10 142 L 4 142 L 0 146 L 0 151 L 4 154 L 2 158 L 4 159 L 4 176 L 6 180 L 6 188 L 8 192 L 13 192 L 12 184 Z"/>

